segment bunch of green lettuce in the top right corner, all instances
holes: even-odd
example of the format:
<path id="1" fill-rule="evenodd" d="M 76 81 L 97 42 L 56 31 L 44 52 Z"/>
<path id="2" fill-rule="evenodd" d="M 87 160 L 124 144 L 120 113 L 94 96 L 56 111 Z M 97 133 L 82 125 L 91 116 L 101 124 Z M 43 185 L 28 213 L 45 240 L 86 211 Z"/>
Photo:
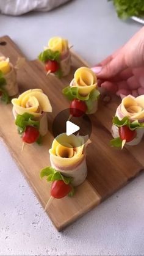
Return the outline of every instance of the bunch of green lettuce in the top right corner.
<path id="1" fill-rule="evenodd" d="M 142 16 L 144 14 L 143 0 L 109 0 L 113 1 L 118 17 L 126 20 L 131 16 Z"/>

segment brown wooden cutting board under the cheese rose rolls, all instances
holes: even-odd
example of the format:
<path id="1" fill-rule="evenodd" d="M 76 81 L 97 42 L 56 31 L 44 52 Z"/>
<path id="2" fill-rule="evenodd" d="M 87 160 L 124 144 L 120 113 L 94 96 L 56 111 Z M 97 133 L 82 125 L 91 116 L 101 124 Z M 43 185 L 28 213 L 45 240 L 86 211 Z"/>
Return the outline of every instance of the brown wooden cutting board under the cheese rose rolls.
<path id="1" fill-rule="evenodd" d="M 0 38 L 0 53 L 10 57 L 13 64 L 16 63 L 18 57 L 23 57 L 20 49 L 7 36 Z M 43 207 L 48 202 L 51 185 L 45 180 L 41 180 L 39 174 L 40 169 L 50 165 L 48 150 L 53 140 L 52 120 L 59 111 L 67 109 L 69 106 L 68 101 L 62 95 L 63 87 L 70 83 L 76 68 L 87 65 L 76 54 L 72 55 L 71 73 L 62 79 L 51 75 L 46 77 L 43 66 L 38 60 L 26 61 L 24 67 L 18 70 L 20 92 L 31 88 L 41 88 L 48 95 L 52 104 L 52 113 L 48 118 L 50 131 L 45 137 L 43 145 L 26 145 L 21 152 L 22 141 L 14 124 L 12 104 L 1 103 L 0 108 L 0 136 Z M 137 146 L 124 148 L 123 151 L 109 145 L 109 141 L 112 139 L 110 134 L 112 116 L 115 114 L 117 106 L 118 98 L 113 98 L 107 104 L 101 100 L 98 112 L 90 116 L 93 131 L 90 137 L 92 144 L 87 147 L 87 180 L 76 188 L 73 198 L 54 199 L 47 210 L 49 218 L 57 230 L 62 230 L 90 211 L 143 170 L 144 140 Z"/>

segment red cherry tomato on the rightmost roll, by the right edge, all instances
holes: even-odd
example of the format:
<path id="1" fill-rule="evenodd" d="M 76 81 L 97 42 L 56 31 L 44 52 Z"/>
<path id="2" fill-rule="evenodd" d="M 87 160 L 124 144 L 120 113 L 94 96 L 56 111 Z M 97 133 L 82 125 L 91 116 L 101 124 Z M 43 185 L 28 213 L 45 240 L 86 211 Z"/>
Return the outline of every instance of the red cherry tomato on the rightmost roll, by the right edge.
<path id="1" fill-rule="evenodd" d="M 118 128 L 118 133 L 120 134 L 120 138 L 122 140 L 126 140 L 126 142 L 132 141 L 137 135 L 136 131 L 131 131 L 128 126 L 124 125 Z"/>

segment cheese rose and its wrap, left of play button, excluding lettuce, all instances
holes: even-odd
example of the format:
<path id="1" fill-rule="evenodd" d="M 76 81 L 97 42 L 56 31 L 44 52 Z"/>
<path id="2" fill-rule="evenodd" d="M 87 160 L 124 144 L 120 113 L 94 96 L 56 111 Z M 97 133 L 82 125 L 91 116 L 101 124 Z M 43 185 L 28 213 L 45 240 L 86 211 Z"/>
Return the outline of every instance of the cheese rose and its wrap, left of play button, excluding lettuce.
<path id="1" fill-rule="evenodd" d="M 13 115 L 29 113 L 35 120 L 40 121 L 40 134 L 44 136 L 48 132 L 47 112 L 52 112 L 48 96 L 41 89 L 30 89 L 22 93 L 18 98 L 13 98 Z"/>

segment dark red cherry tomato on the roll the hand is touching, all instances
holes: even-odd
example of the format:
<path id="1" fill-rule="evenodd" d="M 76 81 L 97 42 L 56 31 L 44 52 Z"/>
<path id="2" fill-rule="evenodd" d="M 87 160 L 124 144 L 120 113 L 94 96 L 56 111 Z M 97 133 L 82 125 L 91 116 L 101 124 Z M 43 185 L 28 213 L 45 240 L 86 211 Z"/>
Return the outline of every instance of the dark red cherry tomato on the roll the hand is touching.
<path id="1" fill-rule="evenodd" d="M 87 111 L 87 105 L 84 101 L 74 99 L 70 104 L 70 114 L 73 117 L 81 117 Z"/>

